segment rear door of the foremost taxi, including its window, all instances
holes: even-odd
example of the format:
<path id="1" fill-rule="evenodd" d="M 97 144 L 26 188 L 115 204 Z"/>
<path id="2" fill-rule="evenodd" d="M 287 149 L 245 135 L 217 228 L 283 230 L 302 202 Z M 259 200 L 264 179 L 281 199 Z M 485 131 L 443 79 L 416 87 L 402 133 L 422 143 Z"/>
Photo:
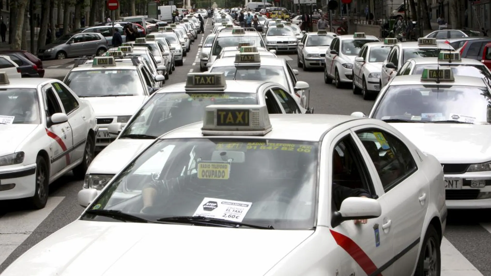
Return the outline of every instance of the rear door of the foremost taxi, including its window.
<path id="1" fill-rule="evenodd" d="M 387 210 L 382 216 L 381 231 L 394 237 L 394 275 L 410 276 L 419 252 L 421 231 L 428 209 L 430 186 L 418 171 L 421 159 L 415 148 L 409 149 L 396 134 L 377 126 L 353 129 L 358 144 L 371 159 L 382 184 Z"/>

